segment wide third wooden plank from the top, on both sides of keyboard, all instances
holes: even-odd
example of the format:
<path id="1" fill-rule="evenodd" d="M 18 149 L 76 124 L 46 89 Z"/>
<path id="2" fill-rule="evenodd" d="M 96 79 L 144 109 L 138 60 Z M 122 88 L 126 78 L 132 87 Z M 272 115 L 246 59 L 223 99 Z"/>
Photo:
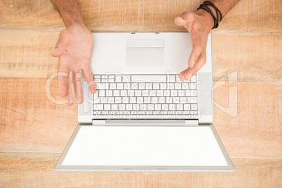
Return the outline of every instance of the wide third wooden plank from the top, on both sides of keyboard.
<path id="1" fill-rule="evenodd" d="M 46 98 L 46 79 L 0 79 L 0 151 L 61 153 L 76 127 L 76 105 Z M 58 83 L 51 93 L 58 98 Z M 228 105 L 229 86 L 238 89 L 238 115 L 214 107 L 214 125 L 232 157 L 281 156 L 281 85 L 237 82 L 214 90 Z M 17 90 L 17 92 L 15 92 Z"/>

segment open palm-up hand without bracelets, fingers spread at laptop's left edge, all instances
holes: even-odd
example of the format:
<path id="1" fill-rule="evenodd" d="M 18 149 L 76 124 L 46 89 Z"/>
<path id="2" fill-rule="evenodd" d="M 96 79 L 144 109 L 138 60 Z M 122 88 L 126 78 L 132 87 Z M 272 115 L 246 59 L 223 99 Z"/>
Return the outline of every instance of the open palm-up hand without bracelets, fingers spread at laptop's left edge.
<path id="1" fill-rule="evenodd" d="M 92 47 L 92 34 L 83 22 L 74 22 L 60 32 L 58 42 L 52 56 L 58 57 L 58 84 L 61 98 L 67 99 L 67 104 L 72 105 L 74 96 L 72 86 L 76 93 L 76 102 L 83 102 L 81 75 L 88 82 L 91 93 L 96 88 L 89 67 L 90 50 Z"/>

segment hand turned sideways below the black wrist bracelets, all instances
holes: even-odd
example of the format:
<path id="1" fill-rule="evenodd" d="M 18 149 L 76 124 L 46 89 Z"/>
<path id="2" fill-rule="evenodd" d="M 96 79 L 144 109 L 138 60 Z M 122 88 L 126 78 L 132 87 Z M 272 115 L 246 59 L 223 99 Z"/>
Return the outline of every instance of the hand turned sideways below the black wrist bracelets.
<path id="1" fill-rule="evenodd" d="M 199 9 L 196 12 L 186 11 L 174 19 L 176 25 L 184 26 L 191 34 L 193 47 L 188 61 L 189 67 L 179 74 L 182 81 L 191 79 L 206 64 L 208 34 L 213 28 L 213 18 L 208 14 Z"/>

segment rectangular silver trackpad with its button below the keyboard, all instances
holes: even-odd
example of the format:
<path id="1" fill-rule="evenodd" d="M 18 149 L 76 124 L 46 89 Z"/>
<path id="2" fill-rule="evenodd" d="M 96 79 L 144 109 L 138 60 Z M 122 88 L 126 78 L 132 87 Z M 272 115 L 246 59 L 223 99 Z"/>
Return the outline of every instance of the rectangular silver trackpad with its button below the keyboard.
<path id="1" fill-rule="evenodd" d="M 163 40 L 128 40 L 126 65 L 161 66 L 164 62 Z"/>

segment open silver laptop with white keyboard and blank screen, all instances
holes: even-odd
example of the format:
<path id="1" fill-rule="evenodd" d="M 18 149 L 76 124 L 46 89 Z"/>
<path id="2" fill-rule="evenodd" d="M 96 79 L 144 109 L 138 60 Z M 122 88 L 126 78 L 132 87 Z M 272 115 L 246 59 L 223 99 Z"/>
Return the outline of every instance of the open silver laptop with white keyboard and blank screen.
<path id="1" fill-rule="evenodd" d="M 58 171 L 232 172 L 213 126 L 211 34 L 189 81 L 189 33 L 93 33 L 83 104 Z"/>

